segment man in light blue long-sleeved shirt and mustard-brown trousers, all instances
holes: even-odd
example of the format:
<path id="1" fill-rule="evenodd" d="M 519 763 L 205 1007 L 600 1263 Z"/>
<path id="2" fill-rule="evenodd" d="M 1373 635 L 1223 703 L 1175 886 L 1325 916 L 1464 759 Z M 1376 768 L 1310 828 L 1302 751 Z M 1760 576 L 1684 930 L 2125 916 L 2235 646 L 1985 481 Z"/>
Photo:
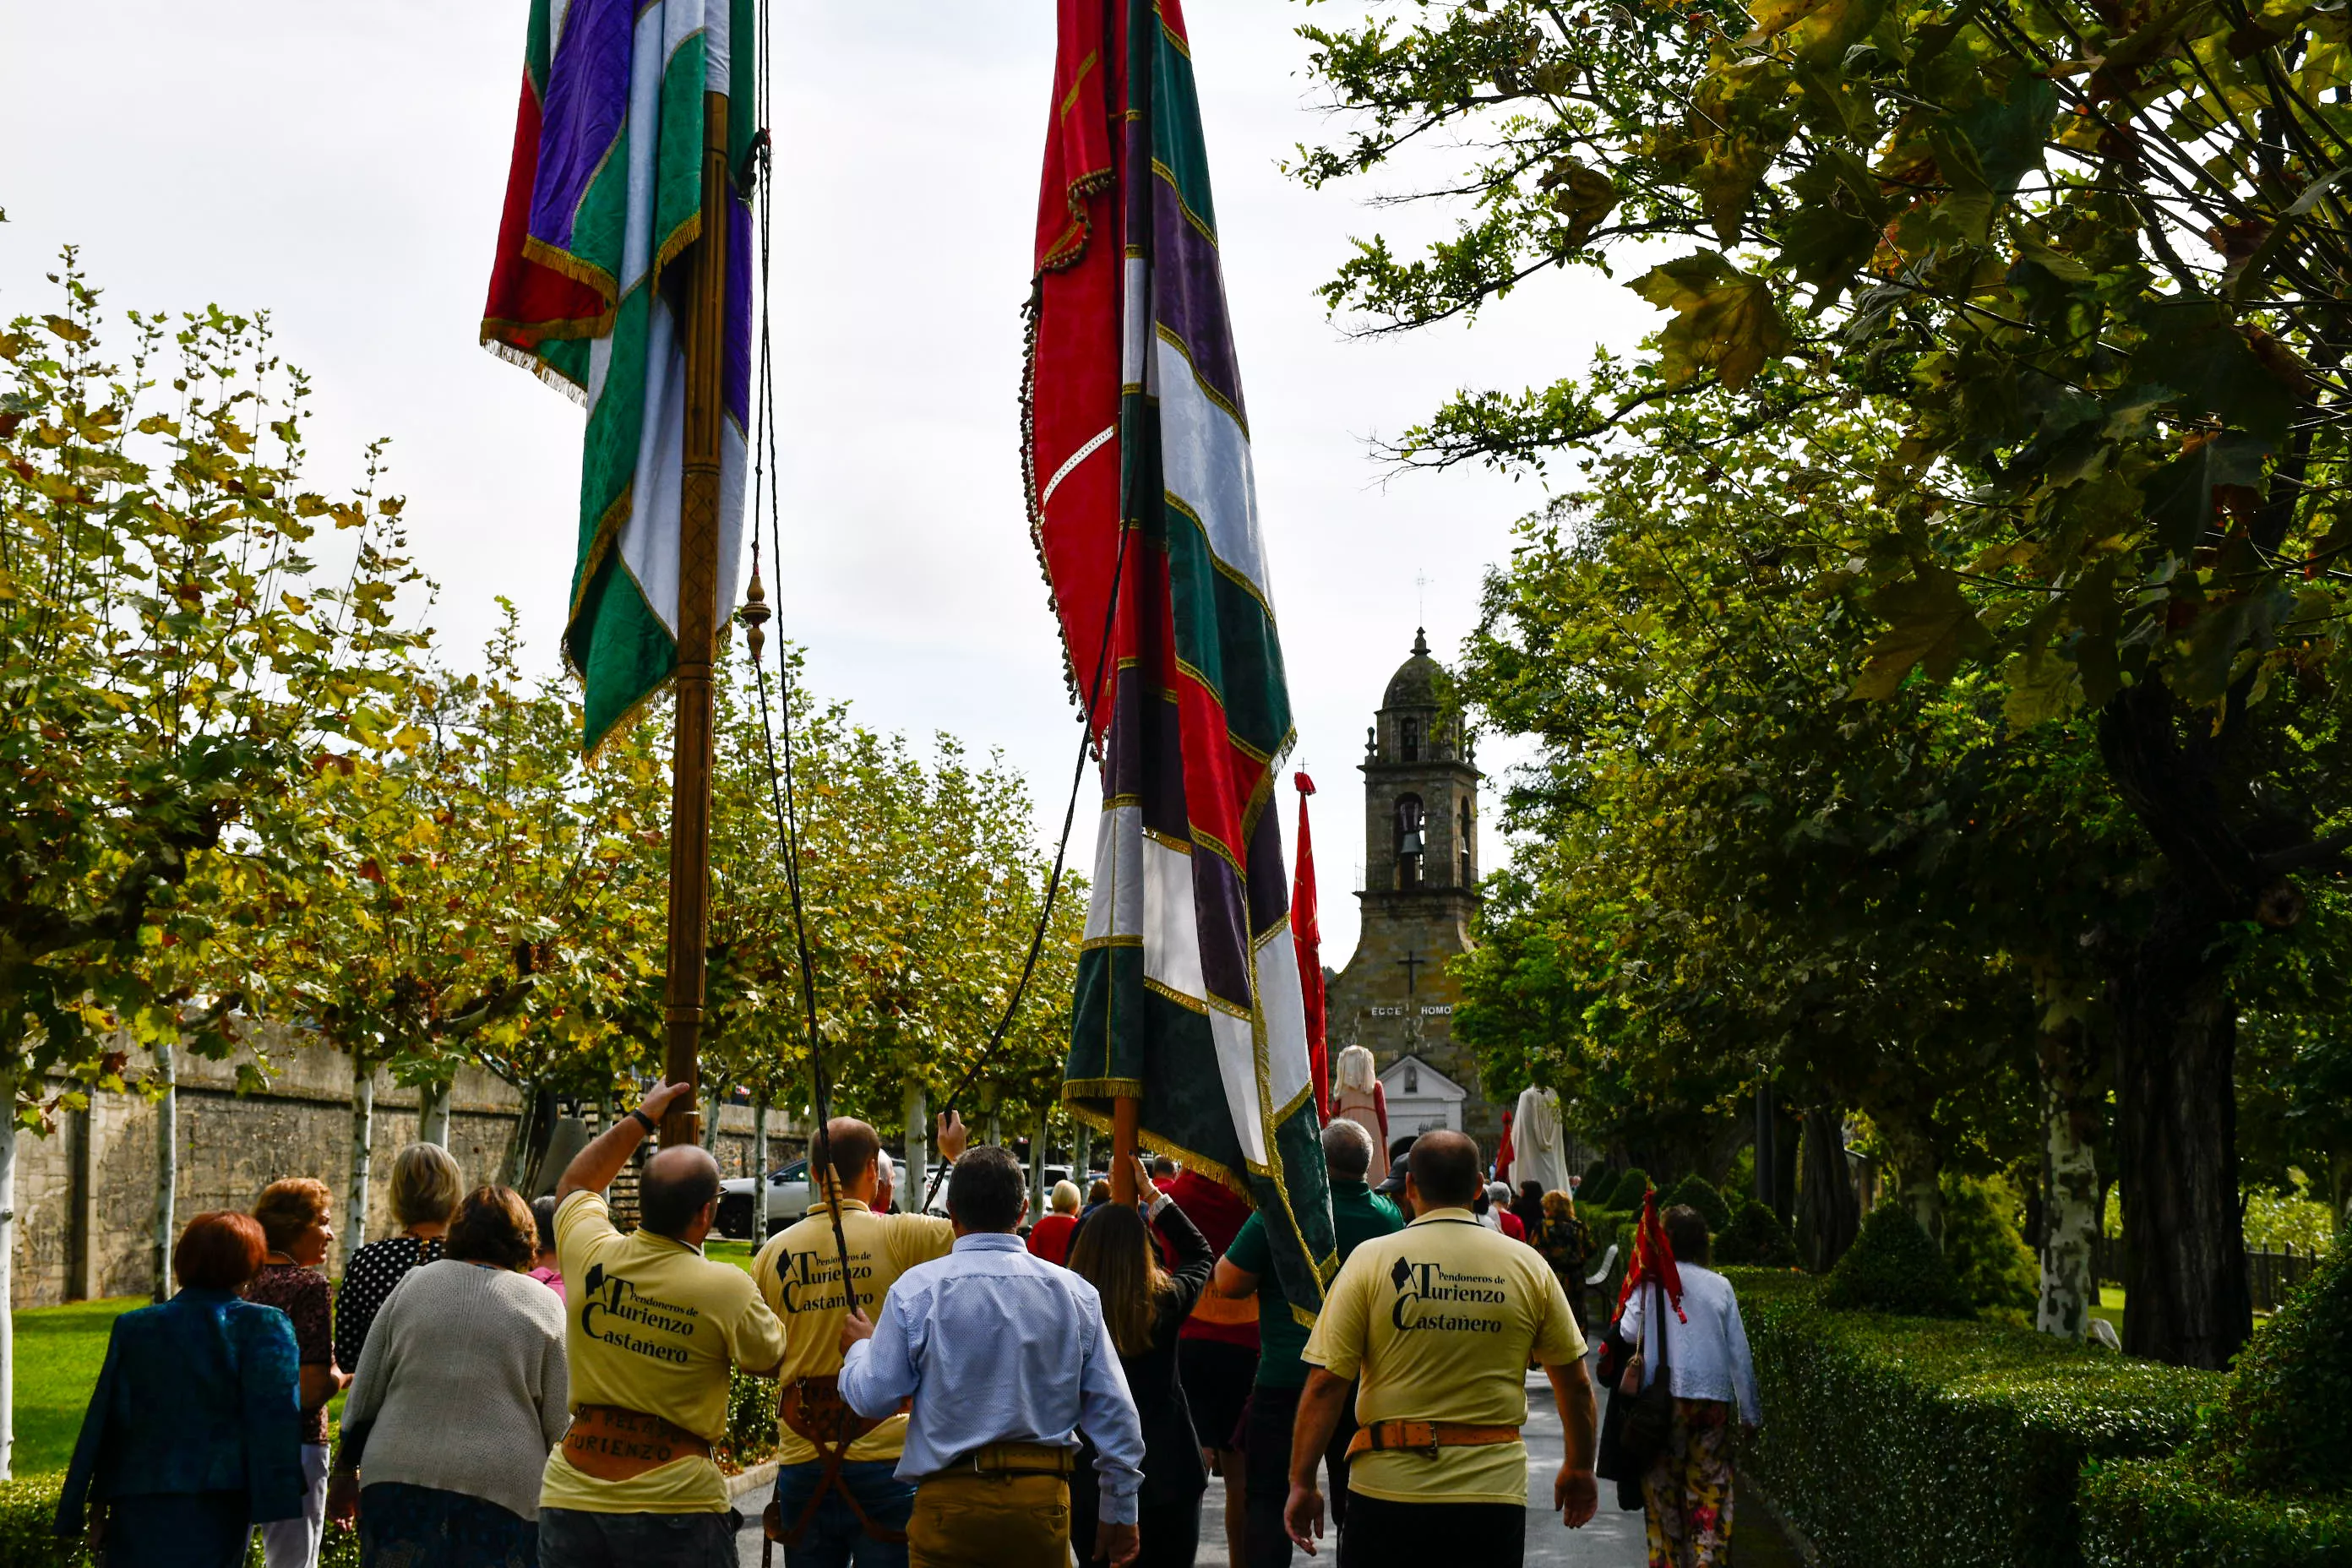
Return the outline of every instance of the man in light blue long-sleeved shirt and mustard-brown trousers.
<path id="1" fill-rule="evenodd" d="M 1094 1441 L 1101 1521 L 1087 1561 L 1134 1561 L 1143 1422 L 1103 1331 L 1094 1286 L 1033 1258 L 1021 1161 L 978 1147 L 955 1161 L 955 1251 L 898 1276 L 873 1324 L 842 1324 L 840 1389 L 868 1420 L 913 1399 L 898 1479 L 915 1568 L 1061 1568 L 1070 1561 L 1070 1467 Z M 1082 1537 L 1084 1540 L 1084 1537 Z"/>

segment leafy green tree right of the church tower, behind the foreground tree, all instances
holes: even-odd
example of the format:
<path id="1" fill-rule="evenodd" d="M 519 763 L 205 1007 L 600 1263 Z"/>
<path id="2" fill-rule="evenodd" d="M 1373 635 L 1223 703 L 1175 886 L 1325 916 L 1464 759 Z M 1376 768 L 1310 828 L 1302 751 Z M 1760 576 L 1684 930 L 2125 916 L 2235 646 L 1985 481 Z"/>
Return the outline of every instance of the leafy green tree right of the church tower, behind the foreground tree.
<path id="1" fill-rule="evenodd" d="M 1891 444 L 1872 409 L 1757 421 L 1717 393 L 1628 433 L 1522 524 L 1470 644 L 1468 701 L 1545 750 L 1510 797 L 1538 846 L 1491 884 L 1458 1027 L 1489 1063 L 1517 1037 L 1639 1063 L 1736 1135 L 1759 1077 L 1865 1110 L 1936 1232 L 1940 1173 L 2030 1135 L 2034 1041 L 2098 1023 L 2079 954 L 2145 849 L 2082 726 L 1980 677 L 1839 703 L 1870 637 L 1844 564 L 1879 517 L 1846 477 Z M 1621 1114 L 1592 1077 L 1583 1110 Z M 2077 1197 L 2089 1232 L 2096 1182 Z"/>

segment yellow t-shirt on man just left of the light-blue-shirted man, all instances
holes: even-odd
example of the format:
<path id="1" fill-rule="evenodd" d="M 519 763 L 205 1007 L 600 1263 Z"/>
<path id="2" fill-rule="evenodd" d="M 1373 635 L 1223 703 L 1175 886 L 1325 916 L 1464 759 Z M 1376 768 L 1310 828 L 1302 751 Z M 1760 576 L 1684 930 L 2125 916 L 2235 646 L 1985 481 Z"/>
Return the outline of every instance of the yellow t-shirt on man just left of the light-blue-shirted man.
<path id="1" fill-rule="evenodd" d="M 858 1288 L 866 1316 L 882 1316 L 882 1295 L 917 1262 L 946 1258 L 955 1246 L 955 1225 L 915 1213 L 873 1213 L 856 1199 L 842 1199 L 842 1241 L 849 1244 L 849 1279 Z M 849 1300 L 842 1295 L 842 1253 L 833 1239 L 833 1211 L 811 1208 L 809 1218 L 769 1237 L 750 1272 L 760 1298 L 783 1319 L 781 1387 L 795 1378 L 833 1378 L 842 1371 L 842 1319 Z M 896 1460 L 906 1450 L 906 1413 L 849 1443 L 851 1462 Z M 783 1422 L 776 1422 L 776 1460 L 807 1465 L 816 1446 Z"/>

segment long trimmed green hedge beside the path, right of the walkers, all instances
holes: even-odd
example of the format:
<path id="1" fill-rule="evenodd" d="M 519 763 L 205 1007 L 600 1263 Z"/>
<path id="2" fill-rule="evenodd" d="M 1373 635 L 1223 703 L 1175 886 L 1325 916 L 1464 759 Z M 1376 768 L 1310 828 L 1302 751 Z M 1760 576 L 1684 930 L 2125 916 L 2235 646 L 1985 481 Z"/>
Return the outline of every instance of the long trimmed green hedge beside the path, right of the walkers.
<path id="1" fill-rule="evenodd" d="M 1755 1474 L 1837 1568 L 2074 1568 L 2089 1460 L 2173 1453 L 2220 1373 L 1997 1324 L 1830 1312 L 1729 1269 L 1755 1352 Z"/>

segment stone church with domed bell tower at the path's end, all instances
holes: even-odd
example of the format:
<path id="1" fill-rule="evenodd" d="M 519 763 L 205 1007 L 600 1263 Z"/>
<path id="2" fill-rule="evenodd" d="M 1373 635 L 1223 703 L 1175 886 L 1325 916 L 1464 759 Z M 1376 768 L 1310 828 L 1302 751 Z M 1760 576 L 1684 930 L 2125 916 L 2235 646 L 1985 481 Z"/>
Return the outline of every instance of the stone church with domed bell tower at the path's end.
<path id="1" fill-rule="evenodd" d="M 1446 973 L 1470 950 L 1479 907 L 1479 771 L 1449 698 L 1444 665 L 1414 632 L 1414 654 L 1364 738 L 1364 926 L 1329 983 L 1327 1027 L 1334 1056 L 1357 1044 L 1378 1063 L 1390 1140 L 1442 1119 L 1494 1159 L 1503 1110 L 1479 1088 L 1472 1051 L 1454 1039 L 1458 992 Z M 1463 1091 L 1458 1100 L 1446 1084 Z M 1404 1117 L 1406 1105 L 1421 1110 Z"/>

